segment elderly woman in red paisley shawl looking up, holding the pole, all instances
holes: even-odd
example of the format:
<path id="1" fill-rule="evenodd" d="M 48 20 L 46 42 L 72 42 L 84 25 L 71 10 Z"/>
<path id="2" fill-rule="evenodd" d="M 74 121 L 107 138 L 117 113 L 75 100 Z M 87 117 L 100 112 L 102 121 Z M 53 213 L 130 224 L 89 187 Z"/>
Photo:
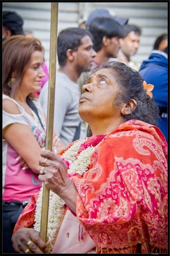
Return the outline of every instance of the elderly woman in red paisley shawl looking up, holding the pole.
<path id="1" fill-rule="evenodd" d="M 123 63 L 91 72 L 79 100 L 91 136 L 58 155 L 41 152 L 39 179 L 50 189 L 47 244 L 41 188 L 15 225 L 17 252 L 167 253 L 167 143 L 152 88 Z"/>

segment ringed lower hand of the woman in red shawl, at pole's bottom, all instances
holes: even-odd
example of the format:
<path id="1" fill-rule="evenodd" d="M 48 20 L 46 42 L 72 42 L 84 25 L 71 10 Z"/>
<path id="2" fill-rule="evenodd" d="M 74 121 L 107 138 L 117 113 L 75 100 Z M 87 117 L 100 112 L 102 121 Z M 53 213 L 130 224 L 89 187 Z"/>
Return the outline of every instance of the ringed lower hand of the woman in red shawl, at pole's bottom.
<path id="1" fill-rule="evenodd" d="M 47 245 L 42 240 L 40 232 L 32 228 L 21 228 L 12 236 L 12 244 L 18 253 L 47 253 Z"/>

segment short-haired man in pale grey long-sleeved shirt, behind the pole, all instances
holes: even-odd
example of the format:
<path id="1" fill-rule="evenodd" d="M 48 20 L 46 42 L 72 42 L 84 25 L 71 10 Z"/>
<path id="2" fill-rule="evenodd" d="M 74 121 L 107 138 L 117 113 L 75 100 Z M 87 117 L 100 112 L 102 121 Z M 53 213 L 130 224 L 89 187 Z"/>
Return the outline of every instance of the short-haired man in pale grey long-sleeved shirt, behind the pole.
<path id="1" fill-rule="evenodd" d="M 86 136 L 85 130 L 83 132 L 79 126 L 82 121 L 78 113 L 81 93 L 77 79 L 84 68 L 90 70 L 96 56 L 92 40 L 91 33 L 83 28 L 66 28 L 58 34 L 59 69 L 55 77 L 54 130 L 61 143 L 57 152 L 75 140 L 76 130 L 76 139 Z M 41 89 L 38 100 L 47 114 L 48 82 Z"/>

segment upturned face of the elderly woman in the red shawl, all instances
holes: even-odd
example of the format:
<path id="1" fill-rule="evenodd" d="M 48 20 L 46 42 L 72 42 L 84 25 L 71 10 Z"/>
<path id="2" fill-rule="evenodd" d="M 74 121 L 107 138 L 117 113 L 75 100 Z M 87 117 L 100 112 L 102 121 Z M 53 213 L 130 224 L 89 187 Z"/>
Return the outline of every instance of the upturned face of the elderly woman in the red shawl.
<path id="1" fill-rule="evenodd" d="M 79 100 L 81 119 L 88 123 L 91 118 L 104 121 L 120 117 L 120 107 L 115 108 L 119 91 L 112 69 L 101 69 L 94 73 L 83 85 L 83 94 Z"/>

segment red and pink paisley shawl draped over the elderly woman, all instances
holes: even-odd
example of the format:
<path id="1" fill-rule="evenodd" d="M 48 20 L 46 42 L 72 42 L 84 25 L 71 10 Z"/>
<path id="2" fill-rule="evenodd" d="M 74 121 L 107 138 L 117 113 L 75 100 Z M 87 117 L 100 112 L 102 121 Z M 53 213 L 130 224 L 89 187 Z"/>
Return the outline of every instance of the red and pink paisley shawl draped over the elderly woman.
<path id="1" fill-rule="evenodd" d="M 96 147 L 89 170 L 70 179 L 77 188 L 77 218 L 96 253 L 166 253 L 168 167 L 162 132 L 129 120 L 107 135 L 89 137 L 78 154 L 89 145 Z M 36 200 L 32 196 L 14 232 L 32 226 Z"/>

